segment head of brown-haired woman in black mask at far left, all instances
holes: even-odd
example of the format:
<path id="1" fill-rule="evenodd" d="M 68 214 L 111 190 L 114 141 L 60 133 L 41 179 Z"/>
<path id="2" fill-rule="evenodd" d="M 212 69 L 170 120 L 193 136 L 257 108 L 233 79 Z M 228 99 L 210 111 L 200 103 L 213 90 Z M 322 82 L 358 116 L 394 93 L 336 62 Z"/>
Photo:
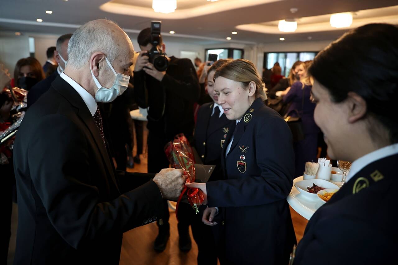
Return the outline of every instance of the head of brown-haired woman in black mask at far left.
<path id="1" fill-rule="evenodd" d="M 40 62 L 33 57 L 18 60 L 14 69 L 14 86 L 29 90 L 45 78 Z"/>

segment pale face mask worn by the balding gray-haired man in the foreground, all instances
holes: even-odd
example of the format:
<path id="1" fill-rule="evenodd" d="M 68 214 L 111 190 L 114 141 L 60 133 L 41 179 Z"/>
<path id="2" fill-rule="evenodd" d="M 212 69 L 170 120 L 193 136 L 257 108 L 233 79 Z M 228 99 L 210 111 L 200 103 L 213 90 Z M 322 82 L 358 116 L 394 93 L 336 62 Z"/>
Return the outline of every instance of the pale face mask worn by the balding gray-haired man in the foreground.
<path id="1" fill-rule="evenodd" d="M 125 92 L 127 87 L 129 86 L 130 76 L 126 76 L 125 74 L 120 73 L 116 74 L 116 71 L 115 69 L 113 69 L 108 58 L 105 57 L 105 60 L 116 77 L 111 88 L 104 88 L 100 85 L 100 82 L 98 82 L 97 78 L 93 74 L 93 70 L 91 70 L 90 67 L 91 75 L 93 76 L 94 82 L 96 83 L 96 86 L 98 88 L 96 92 L 97 102 L 112 102 L 117 96 L 123 94 L 123 92 Z"/>

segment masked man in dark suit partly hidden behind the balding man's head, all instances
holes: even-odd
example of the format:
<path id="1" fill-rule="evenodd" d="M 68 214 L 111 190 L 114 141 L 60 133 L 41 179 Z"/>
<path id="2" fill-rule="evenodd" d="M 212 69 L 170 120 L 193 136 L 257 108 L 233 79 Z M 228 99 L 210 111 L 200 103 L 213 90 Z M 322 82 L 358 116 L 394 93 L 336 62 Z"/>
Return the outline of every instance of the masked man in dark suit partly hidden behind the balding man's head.
<path id="1" fill-rule="evenodd" d="M 64 34 L 57 39 L 57 49 L 54 51 L 54 58 L 58 63 L 57 70 L 47 76 L 46 79 L 35 84 L 29 90 L 29 93 L 27 94 L 27 107 L 30 107 L 37 101 L 37 99 L 39 99 L 39 97 L 41 97 L 41 95 L 47 92 L 55 78 L 64 71 L 66 61 L 68 60 L 68 43 L 70 37 L 72 37 L 72 33 Z"/>

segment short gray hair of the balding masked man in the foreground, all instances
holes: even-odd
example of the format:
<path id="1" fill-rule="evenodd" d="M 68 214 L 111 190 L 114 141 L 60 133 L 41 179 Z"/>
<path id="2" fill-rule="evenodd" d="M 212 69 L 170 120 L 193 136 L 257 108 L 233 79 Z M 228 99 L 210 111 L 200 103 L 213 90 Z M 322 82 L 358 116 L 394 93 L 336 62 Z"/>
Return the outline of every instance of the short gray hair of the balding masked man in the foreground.
<path id="1" fill-rule="evenodd" d="M 113 21 L 107 20 L 117 26 Z M 79 27 L 68 43 L 68 66 L 79 69 L 86 64 L 93 53 L 103 52 L 109 62 L 113 62 L 119 53 L 114 33 L 110 27 L 98 25 L 96 21 L 89 21 Z"/>

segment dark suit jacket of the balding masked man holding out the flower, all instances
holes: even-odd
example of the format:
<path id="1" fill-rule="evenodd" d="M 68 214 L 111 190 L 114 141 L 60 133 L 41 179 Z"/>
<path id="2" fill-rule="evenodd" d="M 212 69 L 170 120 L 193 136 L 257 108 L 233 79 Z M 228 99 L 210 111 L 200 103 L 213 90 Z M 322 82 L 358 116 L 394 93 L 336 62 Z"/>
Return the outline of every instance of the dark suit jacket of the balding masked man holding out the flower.
<path id="1" fill-rule="evenodd" d="M 14 264 L 119 264 L 122 233 L 163 211 L 152 174 L 115 172 L 94 118 L 61 77 L 27 111 L 14 168 Z"/>

